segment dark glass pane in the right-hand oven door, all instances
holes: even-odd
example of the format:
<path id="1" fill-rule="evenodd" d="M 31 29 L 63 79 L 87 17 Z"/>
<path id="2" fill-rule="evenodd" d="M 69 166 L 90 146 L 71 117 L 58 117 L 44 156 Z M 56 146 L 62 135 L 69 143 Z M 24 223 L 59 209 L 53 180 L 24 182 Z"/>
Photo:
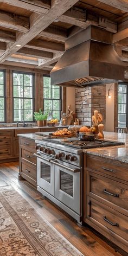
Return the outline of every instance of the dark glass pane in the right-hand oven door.
<path id="1" fill-rule="evenodd" d="M 60 171 L 60 189 L 73 196 L 73 176 L 65 171 Z"/>

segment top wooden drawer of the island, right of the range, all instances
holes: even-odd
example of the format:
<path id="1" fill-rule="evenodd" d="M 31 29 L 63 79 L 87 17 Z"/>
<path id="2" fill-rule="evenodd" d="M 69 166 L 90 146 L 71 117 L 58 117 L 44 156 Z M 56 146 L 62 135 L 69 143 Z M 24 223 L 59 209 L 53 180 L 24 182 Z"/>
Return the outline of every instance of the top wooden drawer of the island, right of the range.
<path id="1" fill-rule="evenodd" d="M 103 158 L 86 157 L 86 169 L 99 171 L 101 174 L 107 174 L 113 177 L 121 178 L 121 180 L 128 181 L 128 171 L 123 164 L 116 164 L 114 161 L 107 162 Z"/>

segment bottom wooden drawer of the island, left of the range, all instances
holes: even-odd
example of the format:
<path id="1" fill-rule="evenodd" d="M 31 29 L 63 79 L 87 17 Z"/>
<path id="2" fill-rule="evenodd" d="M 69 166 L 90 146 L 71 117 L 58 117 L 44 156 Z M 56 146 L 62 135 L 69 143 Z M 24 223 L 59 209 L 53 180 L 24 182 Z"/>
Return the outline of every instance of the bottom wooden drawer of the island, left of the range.
<path id="1" fill-rule="evenodd" d="M 21 162 L 21 172 L 36 180 L 36 165 Z"/>

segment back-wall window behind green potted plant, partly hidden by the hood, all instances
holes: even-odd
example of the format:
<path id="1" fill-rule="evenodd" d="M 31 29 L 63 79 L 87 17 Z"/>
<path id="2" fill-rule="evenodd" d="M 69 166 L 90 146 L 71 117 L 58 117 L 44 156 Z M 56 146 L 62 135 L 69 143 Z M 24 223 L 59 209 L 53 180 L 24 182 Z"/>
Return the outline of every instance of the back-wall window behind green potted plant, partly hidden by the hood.
<path id="1" fill-rule="evenodd" d="M 51 113 L 51 118 L 60 120 L 61 87 L 51 85 L 49 76 L 43 76 L 43 108 L 44 112 Z"/>

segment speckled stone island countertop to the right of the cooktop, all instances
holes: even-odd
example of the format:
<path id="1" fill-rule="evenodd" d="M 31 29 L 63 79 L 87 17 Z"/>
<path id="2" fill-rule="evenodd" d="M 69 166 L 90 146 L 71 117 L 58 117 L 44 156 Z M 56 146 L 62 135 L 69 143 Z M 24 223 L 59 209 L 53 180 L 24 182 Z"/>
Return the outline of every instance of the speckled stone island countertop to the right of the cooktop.
<path id="1" fill-rule="evenodd" d="M 105 158 L 114 159 L 120 162 L 128 163 L 128 134 L 116 132 L 104 132 L 104 139 L 116 140 L 124 142 L 124 146 L 109 146 L 105 148 L 85 149 L 85 153 L 94 156 L 101 156 Z"/>

